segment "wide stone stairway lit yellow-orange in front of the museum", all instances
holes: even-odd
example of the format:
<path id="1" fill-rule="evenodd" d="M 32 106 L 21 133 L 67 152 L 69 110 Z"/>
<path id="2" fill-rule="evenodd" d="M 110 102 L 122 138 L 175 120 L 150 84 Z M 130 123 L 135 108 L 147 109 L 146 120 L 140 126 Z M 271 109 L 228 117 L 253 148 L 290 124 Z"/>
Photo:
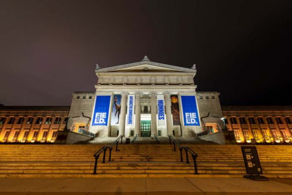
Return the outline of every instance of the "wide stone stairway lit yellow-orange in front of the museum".
<path id="1" fill-rule="evenodd" d="M 0 177 L 242 177 L 241 148 L 237 145 L 190 145 L 198 154 L 194 163 L 180 162 L 180 152 L 169 144 L 119 144 L 112 161 L 92 175 L 93 154 L 103 145 L 0 145 Z M 292 177 L 292 146 L 257 146 L 263 175 Z"/>

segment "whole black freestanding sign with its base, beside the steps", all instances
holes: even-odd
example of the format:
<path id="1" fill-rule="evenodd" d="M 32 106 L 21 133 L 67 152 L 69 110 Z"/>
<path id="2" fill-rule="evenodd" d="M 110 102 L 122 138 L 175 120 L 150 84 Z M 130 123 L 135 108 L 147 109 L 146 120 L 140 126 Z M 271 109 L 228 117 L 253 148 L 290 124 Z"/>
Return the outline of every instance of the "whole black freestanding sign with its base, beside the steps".
<path id="1" fill-rule="evenodd" d="M 268 178 L 261 176 L 263 174 L 262 167 L 260 166 L 260 159 L 258 158 L 258 151 L 256 146 L 241 146 L 241 151 L 244 159 L 246 173 L 243 177 L 255 181 L 267 181 Z"/>

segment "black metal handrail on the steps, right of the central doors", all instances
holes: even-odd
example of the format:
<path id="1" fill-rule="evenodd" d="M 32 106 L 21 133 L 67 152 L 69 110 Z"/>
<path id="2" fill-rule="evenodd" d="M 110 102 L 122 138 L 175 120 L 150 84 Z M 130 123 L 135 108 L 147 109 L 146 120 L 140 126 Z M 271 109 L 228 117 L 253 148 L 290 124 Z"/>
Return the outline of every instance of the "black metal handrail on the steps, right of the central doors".
<path id="1" fill-rule="evenodd" d="M 186 160 L 187 160 L 187 163 L 189 164 L 190 161 L 189 161 L 189 155 L 188 155 L 188 152 L 192 155 L 192 158 L 193 158 L 193 161 L 194 161 L 194 170 L 195 170 L 195 173 L 196 175 L 199 175 L 198 173 L 198 168 L 197 168 L 197 157 L 198 157 L 198 154 L 195 153 L 192 149 L 190 149 L 188 146 L 180 146 L 180 144 L 178 143 L 178 141 L 176 141 L 174 139 L 174 137 L 172 137 L 172 135 L 168 135 L 169 137 L 169 144 L 171 144 L 171 140 L 173 142 L 173 150 L 176 151 L 175 149 L 175 145 L 178 147 L 178 149 L 180 150 L 180 161 L 183 162 L 183 149 L 185 150 L 185 157 L 186 157 Z"/>

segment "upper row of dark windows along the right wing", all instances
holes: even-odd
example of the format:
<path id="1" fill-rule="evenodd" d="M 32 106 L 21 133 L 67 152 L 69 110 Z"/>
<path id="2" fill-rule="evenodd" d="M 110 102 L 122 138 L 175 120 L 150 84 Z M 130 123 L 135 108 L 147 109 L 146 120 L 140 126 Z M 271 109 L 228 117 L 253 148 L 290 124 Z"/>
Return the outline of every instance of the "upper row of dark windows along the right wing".
<path id="1" fill-rule="evenodd" d="M 285 118 L 282 118 L 283 120 L 285 120 L 285 122 L 287 124 L 292 124 L 292 120 L 291 118 L 289 117 L 285 117 Z M 281 119 L 281 117 L 276 117 L 275 120 L 277 121 L 277 124 L 283 124 L 283 120 Z M 247 124 L 247 120 L 250 124 L 256 124 L 256 119 L 253 118 L 253 117 L 248 117 L 248 118 L 245 118 L 245 117 L 239 117 L 239 122 L 240 124 Z M 267 120 L 267 123 L 268 124 L 274 124 L 274 120 L 271 118 L 271 117 L 266 117 L 266 118 L 262 118 L 262 117 L 258 117 L 258 123 L 259 124 L 265 124 L 265 120 Z M 237 120 L 235 117 L 230 117 L 230 121 L 231 121 L 231 124 L 238 124 L 237 123 Z M 228 120 L 225 120 L 226 124 L 228 124 Z"/>

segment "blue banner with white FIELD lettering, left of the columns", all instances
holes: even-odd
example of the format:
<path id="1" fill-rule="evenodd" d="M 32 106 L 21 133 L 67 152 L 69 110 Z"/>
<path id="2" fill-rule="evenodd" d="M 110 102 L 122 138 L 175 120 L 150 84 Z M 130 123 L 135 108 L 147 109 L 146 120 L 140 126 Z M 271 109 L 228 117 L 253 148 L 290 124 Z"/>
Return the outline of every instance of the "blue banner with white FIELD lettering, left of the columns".
<path id="1" fill-rule="evenodd" d="M 109 116 L 109 103 L 110 96 L 96 96 L 92 126 L 95 125 L 107 126 L 107 120 Z"/>

